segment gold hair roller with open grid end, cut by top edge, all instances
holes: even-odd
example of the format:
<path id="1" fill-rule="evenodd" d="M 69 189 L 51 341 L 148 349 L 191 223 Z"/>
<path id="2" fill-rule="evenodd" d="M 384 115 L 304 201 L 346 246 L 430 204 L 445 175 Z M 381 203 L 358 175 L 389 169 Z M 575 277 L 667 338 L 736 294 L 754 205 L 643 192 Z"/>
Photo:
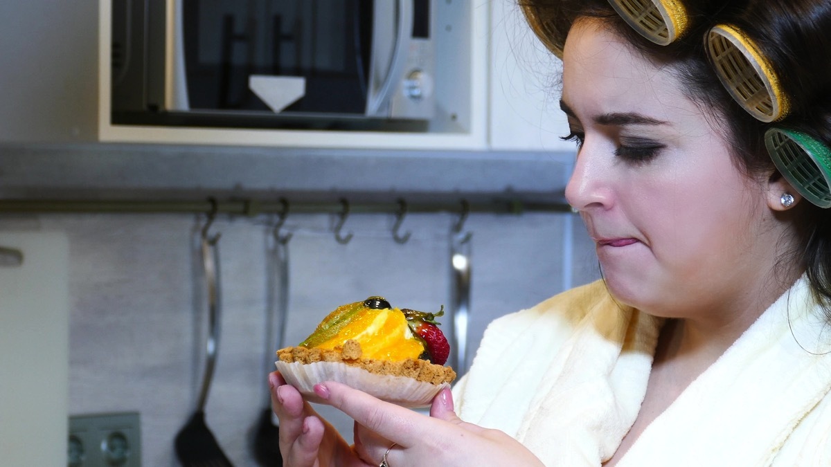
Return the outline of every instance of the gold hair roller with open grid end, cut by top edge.
<path id="1" fill-rule="evenodd" d="M 689 24 L 686 8 L 679 0 L 609 0 L 609 3 L 635 31 L 661 46 L 683 36 Z"/>

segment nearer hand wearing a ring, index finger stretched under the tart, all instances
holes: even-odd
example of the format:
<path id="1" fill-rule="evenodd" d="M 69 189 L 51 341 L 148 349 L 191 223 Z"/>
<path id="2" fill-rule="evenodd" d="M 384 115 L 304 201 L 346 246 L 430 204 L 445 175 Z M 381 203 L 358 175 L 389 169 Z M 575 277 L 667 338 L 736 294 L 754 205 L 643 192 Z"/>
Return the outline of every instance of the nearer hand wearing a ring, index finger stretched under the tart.
<path id="1" fill-rule="evenodd" d="M 337 382 L 317 385 L 315 392 L 356 421 L 354 452 L 367 465 L 379 465 L 393 443 L 386 456 L 391 467 L 543 465 L 504 432 L 462 421 L 453 411 L 449 389 L 435 396 L 430 417 Z"/>

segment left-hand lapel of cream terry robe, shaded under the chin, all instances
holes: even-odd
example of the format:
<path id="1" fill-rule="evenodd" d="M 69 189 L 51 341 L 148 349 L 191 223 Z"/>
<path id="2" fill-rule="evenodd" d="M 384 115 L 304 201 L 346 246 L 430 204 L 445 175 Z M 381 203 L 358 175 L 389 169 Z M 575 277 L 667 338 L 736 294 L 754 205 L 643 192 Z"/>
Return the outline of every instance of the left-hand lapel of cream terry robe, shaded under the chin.
<path id="1" fill-rule="evenodd" d="M 500 317 L 454 389 L 459 414 L 545 465 L 600 465 L 637 417 L 661 323 L 599 281 Z"/>

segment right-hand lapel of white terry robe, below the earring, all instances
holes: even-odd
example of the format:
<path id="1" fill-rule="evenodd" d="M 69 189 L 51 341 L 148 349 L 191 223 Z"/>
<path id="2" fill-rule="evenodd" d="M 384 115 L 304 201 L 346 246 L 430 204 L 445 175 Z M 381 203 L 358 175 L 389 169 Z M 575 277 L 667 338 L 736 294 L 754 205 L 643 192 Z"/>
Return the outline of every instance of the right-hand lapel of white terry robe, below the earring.
<path id="1" fill-rule="evenodd" d="M 618 465 L 774 464 L 831 390 L 829 351 L 831 334 L 801 278 L 647 426 Z"/>

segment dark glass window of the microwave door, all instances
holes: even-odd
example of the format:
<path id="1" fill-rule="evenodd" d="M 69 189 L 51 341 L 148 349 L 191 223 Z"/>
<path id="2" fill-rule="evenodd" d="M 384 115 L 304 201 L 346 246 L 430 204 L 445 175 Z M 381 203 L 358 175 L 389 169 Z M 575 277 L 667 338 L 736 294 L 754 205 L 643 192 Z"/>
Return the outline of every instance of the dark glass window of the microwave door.
<path id="1" fill-rule="evenodd" d="M 266 110 L 248 76 L 302 76 L 287 111 L 361 113 L 371 51 L 370 0 L 185 0 L 184 56 L 193 109 Z"/>

